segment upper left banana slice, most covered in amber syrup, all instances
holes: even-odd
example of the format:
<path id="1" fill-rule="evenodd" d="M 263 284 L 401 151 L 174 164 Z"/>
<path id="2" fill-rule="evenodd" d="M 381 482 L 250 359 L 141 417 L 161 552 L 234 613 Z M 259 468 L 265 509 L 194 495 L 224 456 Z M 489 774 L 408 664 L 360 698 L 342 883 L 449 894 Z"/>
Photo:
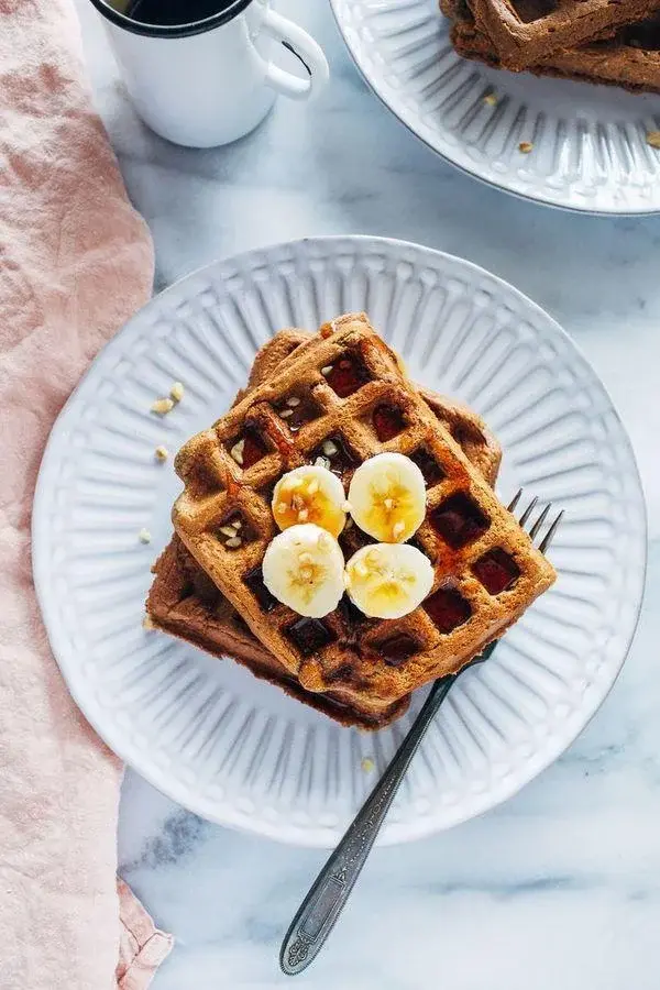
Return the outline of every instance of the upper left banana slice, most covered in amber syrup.
<path id="1" fill-rule="evenodd" d="M 273 516 L 280 529 L 314 522 L 338 537 L 346 521 L 343 485 L 327 468 L 306 464 L 283 475 L 273 492 Z"/>

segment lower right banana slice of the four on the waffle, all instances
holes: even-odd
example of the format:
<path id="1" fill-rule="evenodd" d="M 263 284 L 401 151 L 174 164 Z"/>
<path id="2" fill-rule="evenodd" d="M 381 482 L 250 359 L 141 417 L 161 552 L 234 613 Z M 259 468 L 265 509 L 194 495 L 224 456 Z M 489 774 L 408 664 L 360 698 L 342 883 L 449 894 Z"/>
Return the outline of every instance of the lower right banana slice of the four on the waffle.
<path id="1" fill-rule="evenodd" d="M 408 615 L 426 598 L 432 584 L 428 557 L 405 543 L 363 547 L 346 564 L 349 597 L 372 618 Z"/>

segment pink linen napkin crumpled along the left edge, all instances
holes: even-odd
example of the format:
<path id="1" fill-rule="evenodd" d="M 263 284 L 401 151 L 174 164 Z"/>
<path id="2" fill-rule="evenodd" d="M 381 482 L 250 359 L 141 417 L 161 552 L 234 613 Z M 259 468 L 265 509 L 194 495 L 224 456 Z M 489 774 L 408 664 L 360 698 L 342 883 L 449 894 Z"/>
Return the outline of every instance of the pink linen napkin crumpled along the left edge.
<path id="1" fill-rule="evenodd" d="M 170 945 L 116 884 L 121 767 L 67 693 L 31 574 L 53 420 L 153 276 L 84 79 L 69 0 L 0 0 L 2 990 L 143 990 Z"/>

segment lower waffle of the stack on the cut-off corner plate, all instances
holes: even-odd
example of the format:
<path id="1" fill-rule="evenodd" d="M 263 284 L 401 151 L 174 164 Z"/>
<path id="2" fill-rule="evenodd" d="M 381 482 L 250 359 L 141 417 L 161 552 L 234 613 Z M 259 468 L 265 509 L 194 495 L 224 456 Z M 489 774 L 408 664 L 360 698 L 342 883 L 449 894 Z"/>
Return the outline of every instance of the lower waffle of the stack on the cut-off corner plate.
<path id="1" fill-rule="evenodd" d="M 453 22 L 451 40 L 458 54 L 499 67 L 493 43 L 479 30 L 464 0 L 443 0 L 442 7 Z M 556 52 L 527 70 L 537 76 L 620 86 L 634 92 L 660 92 L 660 16 L 626 24 L 612 37 L 581 48 Z"/>

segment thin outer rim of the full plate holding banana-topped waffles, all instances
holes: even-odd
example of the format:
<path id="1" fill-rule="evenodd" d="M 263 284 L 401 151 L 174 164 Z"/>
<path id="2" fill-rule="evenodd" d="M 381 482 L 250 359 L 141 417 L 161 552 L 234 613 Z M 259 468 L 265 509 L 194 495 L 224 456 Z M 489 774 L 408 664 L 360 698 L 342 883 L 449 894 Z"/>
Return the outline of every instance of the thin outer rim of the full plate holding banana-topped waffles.
<path id="1" fill-rule="evenodd" d="M 101 361 L 107 360 L 108 355 L 112 355 L 116 351 L 119 351 L 120 348 L 125 345 L 127 341 L 130 340 L 130 336 L 138 332 L 140 327 L 140 322 L 143 318 L 145 311 L 151 309 L 155 309 L 163 299 L 169 299 L 176 297 L 177 293 L 185 289 L 188 285 L 194 284 L 197 277 L 205 275 L 206 273 L 212 272 L 222 265 L 226 265 L 230 262 L 242 263 L 248 261 L 251 256 L 263 255 L 275 253 L 278 250 L 284 250 L 287 248 L 296 249 L 301 248 L 302 245 L 312 245 L 319 244 L 322 245 L 326 242 L 360 242 L 364 245 L 373 244 L 374 246 L 378 246 L 380 244 L 388 245 L 391 248 L 400 249 L 403 251 L 413 250 L 414 252 L 419 252 L 420 254 L 427 254 L 435 257 L 442 257 L 450 264 L 458 264 L 461 267 L 465 267 L 479 274 L 481 277 L 485 277 L 486 280 L 491 280 L 495 285 L 497 285 L 501 289 L 504 289 L 505 293 L 514 294 L 518 301 L 521 301 L 526 307 L 532 308 L 537 315 L 543 318 L 548 324 L 552 326 L 554 332 L 559 332 L 559 334 L 569 342 L 570 346 L 574 349 L 576 356 L 584 363 L 586 369 L 592 374 L 594 381 L 600 385 L 603 391 L 604 396 L 607 398 L 610 407 L 610 413 L 614 415 L 622 435 L 622 441 L 625 443 L 627 448 L 627 453 L 630 458 L 630 463 L 635 470 L 636 476 L 636 488 L 638 496 L 638 508 L 640 509 L 640 522 L 642 528 L 641 539 L 640 539 L 640 551 L 641 551 L 641 566 L 638 575 L 638 587 L 639 594 L 637 595 L 637 606 L 636 606 L 636 615 L 635 619 L 631 624 L 629 635 L 627 637 L 627 641 L 625 648 L 623 650 L 620 660 L 616 670 L 613 670 L 612 676 L 607 680 L 605 684 L 602 684 L 604 690 L 600 693 L 597 703 L 593 707 L 591 712 L 587 713 L 586 717 L 584 712 L 579 708 L 576 710 L 572 717 L 564 723 L 564 733 L 561 739 L 554 737 L 554 740 L 558 745 L 556 746 L 546 746 L 543 748 L 537 749 L 537 751 L 531 755 L 526 761 L 526 768 L 528 768 L 529 772 L 526 774 L 525 780 L 514 780 L 510 785 L 502 785 L 497 788 L 496 791 L 487 792 L 485 795 L 486 800 L 482 800 L 481 794 L 475 795 L 475 800 L 471 805 L 463 803 L 461 807 L 463 811 L 455 816 L 454 820 L 450 824 L 443 825 L 441 823 L 432 822 L 427 818 L 419 818 L 416 822 L 406 822 L 403 825 L 394 825 L 384 831 L 382 836 L 380 837 L 378 845 L 387 846 L 387 845 L 397 845 L 399 843 L 411 842 L 416 839 L 420 839 L 427 837 L 429 835 L 433 835 L 438 832 L 446 831 L 447 828 L 454 827 L 455 825 L 462 824 L 471 818 L 484 814 L 486 811 L 490 811 L 493 807 L 498 806 L 504 803 L 509 798 L 517 794 L 527 783 L 531 782 L 531 780 L 536 779 L 539 773 L 541 773 L 544 769 L 547 769 L 554 760 L 564 752 L 569 746 L 575 740 L 575 738 L 581 734 L 581 732 L 586 727 L 586 725 L 594 717 L 596 712 L 600 710 L 601 705 L 609 694 L 612 688 L 614 686 L 618 674 L 625 663 L 625 660 L 628 656 L 631 642 L 634 640 L 637 626 L 639 623 L 641 605 L 644 600 L 644 588 L 646 585 L 646 569 L 647 569 L 647 557 L 648 557 L 648 547 L 647 547 L 647 510 L 646 510 L 646 501 L 644 497 L 644 490 L 641 486 L 641 481 L 639 477 L 639 470 L 637 466 L 637 460 L 635 457 L 635 451 L 631 444 L 631 441 L 628 437 L 628 433 L 625 429 L 625 426 L 619 417 L 618 411 L 609 393 L 607 392 L 605 385 L 600 378 L 597 372 L 593 369 L 586 356 L 584 355 L 582 349 L 573 341 L 573 339 L 569 336 L 569 333 L 554 320 L 542 307 L 540 307 L 537 302 L 529 299 L 520 289 L 517 289 L 515 286 L 512 286 L 505 279 L 499 276 L 488 272 L 487 270 L 481 267 L 480 265 L 470 262 L 468 260 L 461 258 L 457 255 L 451 255 L 448 252 L 438 251 L 433 248 L 429 248 L 426 245 L 417 244 L 410 241 L 404 241 L 395 238 L 383 238 L 383 237 L 372 237 L 369 234 L 352 234 L 352 235 L 329 235 L 329 237 L 318 237 L 318 238 L 301 238 L 293 241 L 282 241 L 270 245 L 264 245 L 261 248 L 255 248 L 249 251 L 241 252 L 235 255 L 227 255 L 224 257 L 218 258 L 211 262 L 208 265 L 202 265 L 196 268 L 194 272 L 183 276 L 177 279 L 173 285 L 168 286 L 163 292 L 158 293 L 154 296 L 147 304 L 145 304 L 142 309 L 140 309 L 130 320 L 124 323 L 124 326 L 114 334 L 111 340 L 109 340 L 101 351 L 97 354 L 89 369 L 81 376 L 78 385 L 65 403 L 62 408 L 55 424 L 51 430 L 46 447 L 44 449 L 44 454 L 42 458 L 42 462 L 38 470 L 35 495 L 34 495 L 34 505 L 33 505 L 33 514 L 32 514 L 32 570 L 34 578 L 34 585 L 37 602 L 40 605 L 40 609 L 42 612 L 42 616 L 44 619 L 44 625 L 46 627 L 48 639 L 51 642 L 51 648 L 55 656 L 55 659 L 58 663 L 61 672 L 66 681 L 68 691 L 80 708 L 87 721 L 97 732 L 99 737 L 109 746 L 109 748 L 122 759 L 127 766 L 132 767 L 135 772 L 142 776 L 150 784 L 156 788 L 166 796 L 170 798 L 174 801 L 177 801 L 180 805 L 188 809 L 195 814 L 199 814 L 202 817 L 207 818 L 210 822 L 213 822 L 219 825 L 226 825 L 229 827 L 237 828 L 246 834 L 256 834 L 263 835 L 266 838 L 272 838 L 277 842 L 282 842 L 288 845 L 298 845 L 306 847 L 320 847 L 320 848 L 331 848 L 338 840 L 338 829 L 336 827 L 327 827 L 317 826 L 314 831 L 307 828 L 307 826 L 300 826 L 295 823 L 289 822 L 287 826 L 287 831 L 283 832 L 282 826 L 277 823 L 270 823 L 265 818 L 260 818 L 257 825 L 253 826 L 253 818 L 250 815 L 246 815 L 241 812 L 237 812 L 235 809 L 232 809 L 232 813 L 228 812 L 227 804 L 222 804 L 222 813 L 218 813 L 215 806 L 207 806 L 204 800 L 198 800 L 197 802 L 190 801 L 189 789 L 184 782 L 172 780 L 167 777 L 166 773 L 161 772 L 160 768 L 156 768 L 154 765 L 144 766 L 135 766 L 133 763 L 132 757 L 133 754 L 130 750 L 130 747 L 125 748 L 122 741 L 121 729 L 118 725 L 112 724 L 109 726 L 103 722 L 103 712 L 99 710 L 96 705 L 96 701 L 91 695 L 85 696 L 85 692 L 82 690 L 84 683 L 80 683 L 80 686 L 76 683 L 76 670 L 75 664 L 70 662 L 69 657 L 67 656 L 66 649 L 64 649 L 61 642 L 61 636 L 56 631 L 53 634 L 53 624 L 50 622 L 50 617 L 52 615 L 52 605 L 50 602 L 50 590 L 48 590 L 48 560 L 46 552 L 45 541 L 42 539 L 42 535 L 44 532 L 44 527 L 46 525 L 45 513 L 43 512 L 43 506 L 45 505 L 48 498 L 48 486 L 47 479 L 51 470 L 51 463 L 55 460 L 56 447 L 61 439 L 61 435 L 65 435 L 68 420 L 74 415 L 75 407 L 79 402 L 80 397 L 85 394 L 86 389 L 90 386 L 90 382 L 94 381 L 96 372 L 101 364 Z M 573 724 L 574 723 L 574 724 Z M 570 728 L 569 728 L 570 727 Z M 426 827 L 425 827 L 426 826 Z"/>

